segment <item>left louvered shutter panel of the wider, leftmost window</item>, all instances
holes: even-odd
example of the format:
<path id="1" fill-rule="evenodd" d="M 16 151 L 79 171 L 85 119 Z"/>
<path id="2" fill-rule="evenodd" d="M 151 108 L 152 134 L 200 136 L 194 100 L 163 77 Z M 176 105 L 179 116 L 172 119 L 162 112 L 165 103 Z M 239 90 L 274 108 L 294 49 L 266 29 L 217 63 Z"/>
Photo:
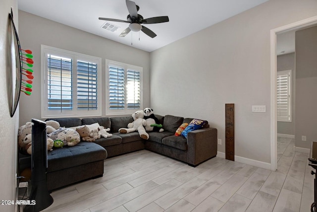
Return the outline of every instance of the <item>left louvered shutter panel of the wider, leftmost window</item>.
<path id="1" fill-rule="evenodd" d="M 72 60 L 48 55 L 48 110 L 72 108 Z"/>

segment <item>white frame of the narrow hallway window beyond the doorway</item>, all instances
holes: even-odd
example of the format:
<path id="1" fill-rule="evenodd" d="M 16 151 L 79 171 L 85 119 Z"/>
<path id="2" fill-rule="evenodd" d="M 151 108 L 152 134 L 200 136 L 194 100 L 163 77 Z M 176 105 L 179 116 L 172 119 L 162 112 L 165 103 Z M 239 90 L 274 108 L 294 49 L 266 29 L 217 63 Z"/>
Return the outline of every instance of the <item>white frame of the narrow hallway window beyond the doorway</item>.
<path id="1" fill-rule="evenodd" d="M 278 77 L 281 75 L 287 75 L 287 116 L 279 116 Z M 276 73 L 276 114 L 278 122 L 292 122 L 292 70 L 277 71 Z"/>

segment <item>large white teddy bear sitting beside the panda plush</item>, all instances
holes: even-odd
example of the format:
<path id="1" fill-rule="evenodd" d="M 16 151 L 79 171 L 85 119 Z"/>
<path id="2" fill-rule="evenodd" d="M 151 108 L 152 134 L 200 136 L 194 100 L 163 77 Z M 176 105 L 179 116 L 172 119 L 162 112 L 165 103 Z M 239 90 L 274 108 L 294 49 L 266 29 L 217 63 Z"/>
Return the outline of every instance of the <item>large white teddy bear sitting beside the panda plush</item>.
<path id="1" fill-rule="evenodd" d="M 119 133 L 126 134 L 138 131 L 142 139 L 148 140 L 149 134 L 147 134 L 147 132 L 144 129 L 144 127 L 147 125 L 147 122 L 143 117 L 143 110 L 136 111 L 132 114 L 132 118 L 134 121 L 128 124 L 128 128 L 120 128 Z"/>

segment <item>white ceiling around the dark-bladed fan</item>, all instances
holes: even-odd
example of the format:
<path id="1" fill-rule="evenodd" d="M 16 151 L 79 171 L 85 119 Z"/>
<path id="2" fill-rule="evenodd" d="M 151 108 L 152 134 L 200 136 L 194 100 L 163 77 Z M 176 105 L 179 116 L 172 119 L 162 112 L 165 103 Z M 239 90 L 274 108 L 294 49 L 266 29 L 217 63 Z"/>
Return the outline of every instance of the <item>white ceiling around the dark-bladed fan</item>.
<path id="1" fill-rule="evenodd" d="M 150 38 L 141 32 L 119 34 L 128 23 L 110 22 L 119 28 L 110 32 L 99 17 L 126 20 L 125 0 L 18 0 L 18 8 L 53 21 L 87 31 L 107 39 L 131 45 L 148 52 L 207 28 L 224 19 L 255 7 L 267 0 L 135 0 L 145 19 L 169 17 L 169 22 L 146 24 L 157 36 Z M 140 38 L 140 40 L 139 40 Z"/>

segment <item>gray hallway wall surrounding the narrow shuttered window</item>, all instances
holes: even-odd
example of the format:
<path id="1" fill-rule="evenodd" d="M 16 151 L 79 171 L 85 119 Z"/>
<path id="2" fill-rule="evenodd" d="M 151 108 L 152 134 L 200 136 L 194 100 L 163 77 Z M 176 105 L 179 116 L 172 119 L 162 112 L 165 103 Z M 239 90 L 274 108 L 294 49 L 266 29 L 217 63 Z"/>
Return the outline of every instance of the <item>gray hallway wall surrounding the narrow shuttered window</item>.
<path id="1" fill-rule="evenodd" d="M 276 69 L 292 70 L 292 122 L 277 122 L 277 133 L 295 135 L 295 53 L 277 56 Z"/>

